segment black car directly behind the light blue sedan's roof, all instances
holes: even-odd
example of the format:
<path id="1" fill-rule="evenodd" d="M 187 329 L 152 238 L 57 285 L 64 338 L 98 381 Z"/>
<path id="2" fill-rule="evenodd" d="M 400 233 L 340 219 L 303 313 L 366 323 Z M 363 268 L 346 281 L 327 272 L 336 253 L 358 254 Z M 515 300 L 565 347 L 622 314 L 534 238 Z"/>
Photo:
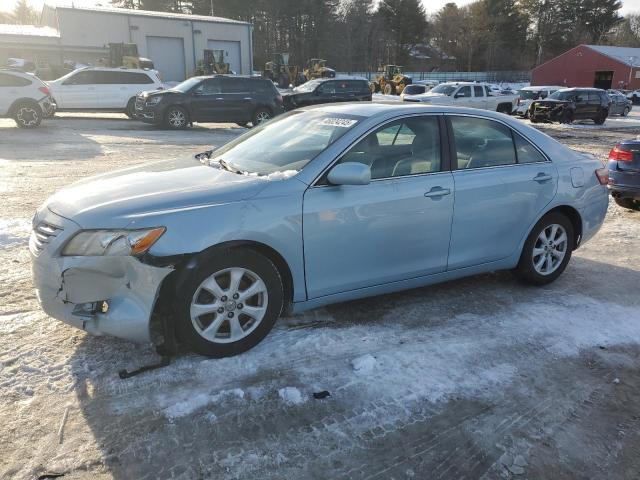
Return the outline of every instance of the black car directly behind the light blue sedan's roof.
<path id="1" fill-rule="evenodd" d="M 319 78 L 303 83 L 282 94 L 287 110 L 318 103 L 371 100 L 369 82 L 365 79 L 341 80 Z"/>

